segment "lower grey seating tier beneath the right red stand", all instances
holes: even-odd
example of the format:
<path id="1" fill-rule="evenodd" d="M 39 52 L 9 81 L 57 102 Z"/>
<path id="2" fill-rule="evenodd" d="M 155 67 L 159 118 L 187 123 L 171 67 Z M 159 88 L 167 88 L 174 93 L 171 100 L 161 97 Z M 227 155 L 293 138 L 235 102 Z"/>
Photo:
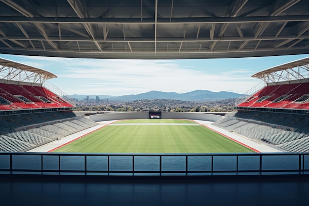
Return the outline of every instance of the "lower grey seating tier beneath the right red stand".
<path id="1" fill-rule="evenodd" d="M 238 111 L 213 125 L 290 152 L 309 152 L 309 115 Z"/>

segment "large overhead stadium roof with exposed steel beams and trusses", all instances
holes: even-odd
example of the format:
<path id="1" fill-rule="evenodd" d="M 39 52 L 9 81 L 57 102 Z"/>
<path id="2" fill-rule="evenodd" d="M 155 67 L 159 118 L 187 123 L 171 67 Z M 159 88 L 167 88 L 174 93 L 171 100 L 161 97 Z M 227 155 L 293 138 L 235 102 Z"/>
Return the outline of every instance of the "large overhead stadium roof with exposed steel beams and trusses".
<path id="1" fill-rule="evenodd" d="M 182 59 L 309 53 L 308 0 L 0 0 L 0 53 Z"/>

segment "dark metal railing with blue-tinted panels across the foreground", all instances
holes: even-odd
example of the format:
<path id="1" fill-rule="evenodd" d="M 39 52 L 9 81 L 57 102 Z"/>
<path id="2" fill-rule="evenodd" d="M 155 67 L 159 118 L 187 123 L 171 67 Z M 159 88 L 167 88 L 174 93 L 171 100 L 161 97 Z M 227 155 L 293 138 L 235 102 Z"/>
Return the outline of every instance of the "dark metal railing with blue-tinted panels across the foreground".
<path id="1" fill-rule="evenodd" d="M 0 174 L 266 175 L 305 174 L 309 153 L 71 154 L 0 152 Z"/>

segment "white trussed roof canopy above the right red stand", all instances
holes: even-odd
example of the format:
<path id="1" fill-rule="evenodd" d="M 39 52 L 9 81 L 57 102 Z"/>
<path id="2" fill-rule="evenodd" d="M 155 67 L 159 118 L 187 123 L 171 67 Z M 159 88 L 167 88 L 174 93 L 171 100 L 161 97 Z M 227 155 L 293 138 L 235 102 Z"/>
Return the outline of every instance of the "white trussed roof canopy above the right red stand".
<path id="1" fill-rule="evenodd" d="M 309 57 L 271 67 L 252 75 L 265 82 L 283 82 L 309 78 Z"/>

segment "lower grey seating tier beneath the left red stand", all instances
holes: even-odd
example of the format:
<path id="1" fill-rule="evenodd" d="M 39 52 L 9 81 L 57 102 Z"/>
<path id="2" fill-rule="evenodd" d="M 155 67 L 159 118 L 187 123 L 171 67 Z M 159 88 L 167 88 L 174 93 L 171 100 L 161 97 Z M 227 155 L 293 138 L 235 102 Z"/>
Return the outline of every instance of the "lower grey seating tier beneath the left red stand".
<path id="1" fill-rule="evenodd" d="M 72 111 L 1 116 L 0 151 L 27 151 L 93 125 Z"/>

